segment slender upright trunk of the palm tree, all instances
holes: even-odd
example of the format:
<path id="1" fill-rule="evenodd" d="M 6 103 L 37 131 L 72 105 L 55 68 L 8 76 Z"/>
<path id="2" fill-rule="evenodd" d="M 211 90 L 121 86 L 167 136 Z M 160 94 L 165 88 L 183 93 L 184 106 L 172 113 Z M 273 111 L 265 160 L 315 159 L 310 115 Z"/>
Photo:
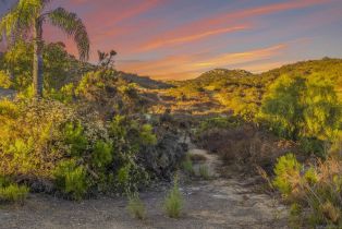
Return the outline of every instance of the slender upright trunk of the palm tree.
<path id="1" fill-rule="evenodd" d="M 40 19 L 35 21 L 34 26 L 34 94 L 36 97 L 42 97 L 42 22 Z"/>

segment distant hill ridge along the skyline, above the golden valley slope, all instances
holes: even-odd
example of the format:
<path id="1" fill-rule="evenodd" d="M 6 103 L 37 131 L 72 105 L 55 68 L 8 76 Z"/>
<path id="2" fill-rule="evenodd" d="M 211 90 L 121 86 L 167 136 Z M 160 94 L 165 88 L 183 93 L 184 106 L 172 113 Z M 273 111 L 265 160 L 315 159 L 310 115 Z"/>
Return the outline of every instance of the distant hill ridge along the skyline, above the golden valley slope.
<path id="1" fill-rule="evenodd" d="M 323 58 L 321 60 L 301 61 L 286 64 L 264 73 L 253 74 L 244 70 L 215 69 L 203 73 L 196 79 L 172 82 L 176 86 L 204 87 L 220 91 L 230 85 L 245 85 L 249 87 L 265 87 L 272 83 L 280 75 L 301 75 L 310 77 L 321 75 L 325 80 L 334 83 L 337 91 L 342 88 L 342 59 Z"/>

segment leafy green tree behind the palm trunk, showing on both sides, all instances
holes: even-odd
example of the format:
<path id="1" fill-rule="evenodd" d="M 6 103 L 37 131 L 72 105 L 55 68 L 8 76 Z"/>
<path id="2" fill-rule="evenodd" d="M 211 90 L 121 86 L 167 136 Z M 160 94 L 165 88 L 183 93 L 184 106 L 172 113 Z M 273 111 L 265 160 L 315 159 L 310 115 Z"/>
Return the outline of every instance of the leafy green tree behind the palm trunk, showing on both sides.
<path id="1" fill-rule="evenodd" d="M 11 86 L 19 92 L 27 91 L 32 85 L 33 57 L 33 44 L 22 39 L 17 39 L 3 55 L 2 68 L 13 73 Z M 64 85 L 77 81 L 83 72 L 94 69 L 91 64 L 80 62 L 70 56 L 62 43 L 44 44 L 42 61 L 45 95 L 49 96 L 54 94 L 49 93 L 52 89 L 60 92 Z"/>

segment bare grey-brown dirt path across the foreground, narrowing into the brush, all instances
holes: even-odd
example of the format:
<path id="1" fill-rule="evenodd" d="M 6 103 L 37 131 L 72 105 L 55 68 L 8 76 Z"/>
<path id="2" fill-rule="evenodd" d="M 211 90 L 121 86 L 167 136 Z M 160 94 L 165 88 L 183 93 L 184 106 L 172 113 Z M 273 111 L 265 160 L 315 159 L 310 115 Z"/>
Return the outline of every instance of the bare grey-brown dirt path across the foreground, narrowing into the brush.
<path id="1" fill-rule="evenodd" d="M 180 219 L 164 216 L 162 200 L 167 188 L 152 189 L 141 194 L 146 203 L 147 219 L 133 219 L 125 210 L 124 198 L 100 197 L 73 203 L 46 195 L 32 195 L 24 206 L 0 208 L 0 228 L 39 229 L 126 229 L 126 228 L 286 228 L 285 208 L 268 195 L 256 194 L 246 186 L 248 180 L 220 178 L 220 160 L 203 149 L 200 154 L 212 180 L 191 181 L 181 185 L 185 198 Z"/>

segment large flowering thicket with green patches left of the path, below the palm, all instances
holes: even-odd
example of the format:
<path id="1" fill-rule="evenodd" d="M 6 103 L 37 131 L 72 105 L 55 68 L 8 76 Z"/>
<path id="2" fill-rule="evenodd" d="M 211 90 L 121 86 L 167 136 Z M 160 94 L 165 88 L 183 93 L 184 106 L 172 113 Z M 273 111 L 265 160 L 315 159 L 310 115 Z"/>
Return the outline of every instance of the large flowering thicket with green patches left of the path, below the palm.
<path id="1" fill-rule="evenodd" d="M 0 103 L 0 173 L 27 183 L 53 181 L 64 195 L 81 200 L 91 192 L 133 192 L 148 182 L 136 156 L 156 144 L 152 128 L 53 100 Z"/>

